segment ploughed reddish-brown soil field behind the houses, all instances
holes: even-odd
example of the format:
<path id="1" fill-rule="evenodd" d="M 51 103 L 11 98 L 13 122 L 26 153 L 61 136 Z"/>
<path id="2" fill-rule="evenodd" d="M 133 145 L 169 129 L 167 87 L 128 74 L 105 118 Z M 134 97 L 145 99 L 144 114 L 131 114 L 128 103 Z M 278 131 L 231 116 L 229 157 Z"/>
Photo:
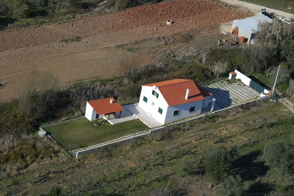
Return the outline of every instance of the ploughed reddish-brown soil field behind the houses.
<path id="1" fill-rule="evenodd" d="M 21 77 L 47 71 L 66 85 L 79 79 L 123 74 L 121 59 L 136 58 L 138 68 L 157 59 L 146 51 L 128 52 L 117 45 L 214 26 L 248 16 L 214 1 L 177 0 L 83 19 L 0 32 L 0 101 L 18 96 Z M 174 24 L 167 25 L 171 19 Z M 78 42 L 62 39 L 80 37 Z"/>

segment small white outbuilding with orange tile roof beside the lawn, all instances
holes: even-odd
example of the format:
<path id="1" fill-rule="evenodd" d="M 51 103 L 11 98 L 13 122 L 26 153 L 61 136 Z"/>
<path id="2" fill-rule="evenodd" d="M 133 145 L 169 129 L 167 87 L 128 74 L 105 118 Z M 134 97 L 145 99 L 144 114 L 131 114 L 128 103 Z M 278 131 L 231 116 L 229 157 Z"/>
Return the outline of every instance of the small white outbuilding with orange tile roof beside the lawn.
<path id="1" fill-rule="evenodd" d="M 113 97 L 87 101 L 85 117 L 92 121 L 124 110 Z M 120 116 L 120 115 L 119 115 Z"/>

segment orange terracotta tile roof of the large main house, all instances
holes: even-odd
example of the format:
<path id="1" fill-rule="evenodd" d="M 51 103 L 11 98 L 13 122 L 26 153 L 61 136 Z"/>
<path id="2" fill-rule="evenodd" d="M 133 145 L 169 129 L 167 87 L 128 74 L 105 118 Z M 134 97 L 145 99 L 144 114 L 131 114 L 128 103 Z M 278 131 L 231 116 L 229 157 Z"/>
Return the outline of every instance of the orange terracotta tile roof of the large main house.
<path id="1" fill-rule="evenodd" d="M 157 86 L 168 106 L 204 100 L 204 96 L 212 95 L 205 89 L 196 85 L 192 80 L 174 79 L 146 84 L 143 86 Z M 200 87 L 201 89 L 199 89 Z M 190 89 L 188 100 L 185 99 L 187 88 Z"/>

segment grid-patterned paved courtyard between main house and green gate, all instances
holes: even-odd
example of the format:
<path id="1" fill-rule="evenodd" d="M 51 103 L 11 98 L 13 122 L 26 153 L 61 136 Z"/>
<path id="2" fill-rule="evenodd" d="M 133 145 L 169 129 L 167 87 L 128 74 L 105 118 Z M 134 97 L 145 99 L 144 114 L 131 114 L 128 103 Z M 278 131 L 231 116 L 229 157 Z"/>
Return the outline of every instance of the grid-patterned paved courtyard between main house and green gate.
<path id="1" fill-rule="evenodd" d="M 256 100 L 260 95 L 252 88 L 243 85 L 243 83 L 229 84 L 221 81 L 204 88 L 212 93 L 213 98 L 216 99 L 213 111 Z"/>

